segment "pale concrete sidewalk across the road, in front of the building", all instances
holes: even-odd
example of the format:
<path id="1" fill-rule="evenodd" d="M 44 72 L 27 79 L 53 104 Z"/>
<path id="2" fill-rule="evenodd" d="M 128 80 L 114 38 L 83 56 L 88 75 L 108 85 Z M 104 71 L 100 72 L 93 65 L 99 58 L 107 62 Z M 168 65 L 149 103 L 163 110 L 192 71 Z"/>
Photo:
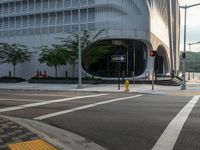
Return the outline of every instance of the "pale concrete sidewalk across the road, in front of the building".
<path id="1" fill-rule="evenodd" d="M 130 92 L 146 94 L 184 94 L 200 95 L 200 82 L 188 82 L 187 90 L 180 90 L 180 86 L 155 85 L 152 90 L 150 84 L 130 84 Z M 121 84 L 118 90 L 117 84 L 83 84 L 82 89 L 77 89 L 76 84 L 37 84 L 37 83 L 0 83 L 0 90 L 40 90 L 40 91 L 88 91 L 88 92 L 124 92 Z"/>

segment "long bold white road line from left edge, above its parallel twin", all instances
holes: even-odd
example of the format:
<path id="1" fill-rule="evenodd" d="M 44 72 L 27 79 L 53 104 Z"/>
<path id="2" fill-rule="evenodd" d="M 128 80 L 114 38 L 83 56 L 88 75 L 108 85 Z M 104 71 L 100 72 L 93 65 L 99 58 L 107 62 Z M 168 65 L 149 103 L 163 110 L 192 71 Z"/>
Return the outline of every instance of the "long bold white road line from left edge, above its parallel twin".
<path id="1" fill-rule="evenodd" d="M 19 110 L 19 109 L 25 109 L 25 108 L 30 108 L 30 107 L 48 105 L 48 104 L 52 104 L 52 103 L 66 102 L 66 101 L 71 101 L 71 100 L 76 100 L 76 99 L 99 97 L 99 96 L 104 96 L 104 95 L 107 95 L 107 94 L 95 94 L 95 95 L 77 96 L 77 97 L 70 97 L 70 98 L 63 98 L 63 99 L 43 101 L 43 102 L 38 102 L 38 103 L 31 103 L 31 104 L 19 105 L 19 106 L 14 106 L 14 107 L 7 107 L 7 108 L 0 109 L 0 113 L 1 112 L 8 112 L 8 111 Z"/>

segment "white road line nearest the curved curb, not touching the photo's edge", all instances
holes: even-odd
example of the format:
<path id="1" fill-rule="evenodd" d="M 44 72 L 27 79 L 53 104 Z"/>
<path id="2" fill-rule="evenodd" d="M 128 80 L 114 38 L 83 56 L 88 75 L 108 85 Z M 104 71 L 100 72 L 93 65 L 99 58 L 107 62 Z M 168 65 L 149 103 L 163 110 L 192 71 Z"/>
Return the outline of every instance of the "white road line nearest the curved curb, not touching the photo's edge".
<path id="1" fill-rule="evenodd" d="M 117 101 L 121 101 L 121 100 L 125 100 L 125 99 L 136 98 L 136 97 L 140 97 L 140 96 L 142 96 L 142 95 L 135 95 L 135 96 L 130 96 L 130 97 L 117 98 L 117 99 L 98 102 L 98 103 L 94 103 L 94 104 L 84 105 L 84 106 L 80 106 L 80 107 L 76 107 L 76 108 L 72 108 L 72 109 L 68 109 L 68 110 L 63 110 L 63 111 L 59 111 L 59 112 L 55 112 L 55 113 L 51 113 L 51 114 L 47 114 L 47 115 L 43 115 L 43 116 L 38 116 L 38 117 L 35 117 L 34 119 L 36 119 L 36 120 L 44 120 L 44 119 L 47 119 L 47 118 L 51 118 L 51 117 L 55 117 L 55 116 L 59 116 L 59 115 L 63 115 L 63 114 L 71 113 L 71 112 L 75 112 L 75 111 L 78 111 L 78 110 L 83 110 L 83 109 L 87 109 L 87 108 L 90 108 L 90 107 L 95 107 L 95 106 L 98 106 L 98 105 L 108 104 L 108 103 L 117 102 Z"/>

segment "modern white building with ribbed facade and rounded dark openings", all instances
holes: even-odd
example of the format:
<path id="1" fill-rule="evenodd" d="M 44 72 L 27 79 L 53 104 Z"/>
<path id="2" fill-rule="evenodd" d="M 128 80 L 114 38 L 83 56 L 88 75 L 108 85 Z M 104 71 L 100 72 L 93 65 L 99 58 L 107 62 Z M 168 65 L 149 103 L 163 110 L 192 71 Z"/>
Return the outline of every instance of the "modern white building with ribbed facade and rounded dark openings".
<path id="1" fill-rule="evenodd" d="M 80 2 L 80 3 L 79 3 Z M 80 4 L 80 5 L 79 5 Z M 156 50 L 155 71 L 168 74 L 179 70 L 180 13 L 178 0 L 0 0 L 0 42 L 25 44 L 30 50 L 59 42 L 81 30 L 104 32 L 96 40 L 109 41 L 116 50 L 92 64 L 88 75 L 115 78 L 118 63 L 112 55 L 123 55 L 120 71 L 125 77 L 142 78 L 153 70 L 150 50 Z M 70 74 L 70 66 L 59 76 Z M 0 65 L 0 76 L 11 66 Z M 37 56 L 17 66 L 17 76 L 30 78 L 37 70 L 53 69 L 39 64 Z M 83 75 L 85 75 L 83 66 Z"/>

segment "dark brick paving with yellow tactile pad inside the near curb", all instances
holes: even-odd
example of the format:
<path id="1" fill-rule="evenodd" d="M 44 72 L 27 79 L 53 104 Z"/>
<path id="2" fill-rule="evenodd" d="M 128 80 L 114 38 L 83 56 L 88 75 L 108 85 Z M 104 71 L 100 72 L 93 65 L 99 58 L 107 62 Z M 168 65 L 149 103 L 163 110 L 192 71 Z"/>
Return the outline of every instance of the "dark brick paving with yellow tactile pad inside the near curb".
<path id="1" fill-rule="evenodd" d="M 30 148 L 57 150 L 27 128 L 0 116 L 0 150 L 28 150 Z"/>

